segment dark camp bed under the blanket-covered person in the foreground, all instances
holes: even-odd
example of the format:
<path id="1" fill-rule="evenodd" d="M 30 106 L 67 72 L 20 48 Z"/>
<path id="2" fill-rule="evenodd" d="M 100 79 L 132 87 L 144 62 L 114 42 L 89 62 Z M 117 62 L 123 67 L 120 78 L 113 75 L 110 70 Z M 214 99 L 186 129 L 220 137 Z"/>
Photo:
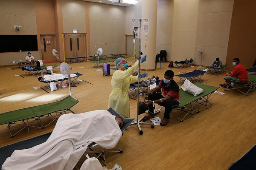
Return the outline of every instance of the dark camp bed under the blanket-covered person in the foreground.
<path id="1" fill-rule="evenodd" d="M 116 111 L 114 111 L 112 108 L 109 108 L 108 111 L 117 117 L 121 117 L 124 121 L 124 125 L 121 128 L 121 131 L 123 132 L 124 130 L 126 130 L 131 123 L 134 121 L 134 118 L 130 119 L 130 118 L 123 118 L 122 116 L 120 116 Z M 6 159 L 8 157 L 10 157 L 12 155 L 12 153 L 15 150 L 23 150 L 23 149 L 28 149 L 31 147 L 34 147 L 36 145 L 42 144 L 44 142 L 47 141 L 47 139 L 49 138 L 49 136 L 51 135 L 50 133 L 45 133 L 43 135 L 40 136 L 35 136 L 33 138 L 30 139 L 25 139 L 19 142 L 15 142 L 13 144 L 9 144 L 3 147 L 0 147 L 0 167 L 3 165 L 4 161 L 6 161 Z M 105 148 L 99 148 L 99 146 L 95 146 L 96 143 L 92 142 L 90 145 L 87 146 L 87 150 L 85 153 L 94 153 L 96 154 L 97 158 L 100 158 L 104 161 L 104 164 L 106 165 L 106 159 L 105 159 L 105 153 L 123 153 L 123 151 L 116 145 L 116 147 L 118 148 L 117 151 L 106 151 Z M 96 151 L 96 149 L 99 149 L 99 151 Z M 85 155 L 84 153 L 84 155 Z"/>

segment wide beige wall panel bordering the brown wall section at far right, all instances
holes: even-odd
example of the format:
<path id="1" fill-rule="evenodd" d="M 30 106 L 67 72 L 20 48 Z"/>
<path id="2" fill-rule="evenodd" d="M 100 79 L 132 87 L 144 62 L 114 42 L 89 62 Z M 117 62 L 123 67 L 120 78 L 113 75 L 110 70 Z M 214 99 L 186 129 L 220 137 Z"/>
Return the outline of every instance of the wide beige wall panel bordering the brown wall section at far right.
<path id="1" fill-rule="evenodd" d="M 219 57 L 226 62 L 227 46 L 234 0 L 199 0 L 194 63 L 200 65 L 198 48 L 203 53 L 202 65 Z"/>

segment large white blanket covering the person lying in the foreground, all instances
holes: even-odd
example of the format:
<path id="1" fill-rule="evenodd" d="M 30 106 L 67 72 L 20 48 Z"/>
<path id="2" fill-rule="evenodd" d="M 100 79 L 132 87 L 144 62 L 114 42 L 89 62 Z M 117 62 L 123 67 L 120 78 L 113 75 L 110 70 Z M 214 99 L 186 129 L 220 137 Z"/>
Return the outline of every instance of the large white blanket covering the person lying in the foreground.
<path id="1" fill-rule="evenodd" d="M 111 149 L 122 132 L 106 110 L 60 116 L 46 142 L 35 147 L 15 150 L 2 170 L 72 170 L 87 149 L 95 142 Z"/>

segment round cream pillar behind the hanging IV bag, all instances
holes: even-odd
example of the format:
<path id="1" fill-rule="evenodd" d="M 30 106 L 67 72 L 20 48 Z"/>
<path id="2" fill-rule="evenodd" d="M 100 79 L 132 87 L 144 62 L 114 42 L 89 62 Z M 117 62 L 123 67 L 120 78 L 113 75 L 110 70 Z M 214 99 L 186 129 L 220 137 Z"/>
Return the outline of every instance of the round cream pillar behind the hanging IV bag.
<path id="1" fill-rule="evenodd" d="M 157 0 L 142 0 L 142 18 L 148 19 L 149 33 L 147 36 L 147 49 L 145 49 L 145 35 L 143 33 L 145 20 L 143 20 L 141 23 L 141 51 L 143 56 L 147 54 L 147 61 L 142 64 L 141 70 L 154 71 L 157 42 Z"/>

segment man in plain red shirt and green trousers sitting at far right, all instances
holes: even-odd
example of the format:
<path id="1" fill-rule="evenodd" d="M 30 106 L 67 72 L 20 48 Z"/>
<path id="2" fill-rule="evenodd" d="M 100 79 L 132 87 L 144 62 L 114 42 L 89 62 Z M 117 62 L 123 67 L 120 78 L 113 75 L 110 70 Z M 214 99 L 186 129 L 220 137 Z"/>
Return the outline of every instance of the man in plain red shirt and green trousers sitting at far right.
<path id="1" fill-rule="evenodd" d="M 247 71 L 246 71 L 246 68 L 240 64 L 240 59 L 234 58 L 232 64 L 235 67 L 231 73 L 226 74 L 227 79 L 232 81 L 247 82 L 248 81 Z M 227 83 L 220 84 L 220 85 L 223 88 L 227 88 Z"/>

